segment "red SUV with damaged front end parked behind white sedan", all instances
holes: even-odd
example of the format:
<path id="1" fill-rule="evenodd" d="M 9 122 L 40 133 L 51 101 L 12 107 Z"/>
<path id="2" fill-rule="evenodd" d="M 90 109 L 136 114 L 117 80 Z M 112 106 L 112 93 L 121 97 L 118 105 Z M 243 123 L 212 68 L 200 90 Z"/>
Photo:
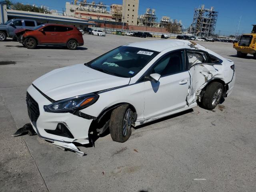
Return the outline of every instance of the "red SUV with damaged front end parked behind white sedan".
<path id="1" fill-rule="evenodd" d="M 28 49 L 34 49 L 37 45 L 65 46 L 75 50 L 84 44 L 82 33 L 73 26 L 59 24 L 42 24 L 32 30 L 16 31 L 20 42 Z"/>

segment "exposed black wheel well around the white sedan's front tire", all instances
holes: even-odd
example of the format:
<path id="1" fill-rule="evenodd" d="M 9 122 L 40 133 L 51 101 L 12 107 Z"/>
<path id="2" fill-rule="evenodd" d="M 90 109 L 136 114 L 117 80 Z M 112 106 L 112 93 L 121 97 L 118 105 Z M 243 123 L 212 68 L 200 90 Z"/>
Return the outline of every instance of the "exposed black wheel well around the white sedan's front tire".
<path id="1" fill-rule="evenodd" d="M 93 132 L 94 134 L 102 134 L 106 128 L 108 128 L 108 123 L 109 123 L 109 120 L 110 120 L 110 116 L 111 116 L 111 113 L 112 111 L 121 106 L 121 105 L 125 105 L 125 104 L 128 104 L 132 110 L 132 112 L 134 112 L 134 119 L 133 121 L 135 122 L 136 119 L 137 119 L 137 114 L 136 114 L 136 109 L 134 108 L 134 106 L 132 104 L 129 104 L 129 103 L 126 103 L 126 102 L 123 102 L 123 103 L 117 103 L 117 104 L 114 104 L 113 106 L 110 106 L 106 109 L 104 109 L 100 115 L 96 118 L 96 120 L 93 120 L 91 125 L 90 125 L 90 128 L 89 128 L 89 133 L 90 132 Z"/>

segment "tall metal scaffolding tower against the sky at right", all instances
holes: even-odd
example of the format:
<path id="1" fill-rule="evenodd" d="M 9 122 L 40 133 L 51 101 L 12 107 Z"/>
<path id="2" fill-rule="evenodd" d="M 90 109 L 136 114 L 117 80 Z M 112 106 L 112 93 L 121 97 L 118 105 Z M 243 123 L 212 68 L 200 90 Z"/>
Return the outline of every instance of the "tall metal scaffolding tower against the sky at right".
<path id="1" fill-rule="evenodd" d="M 201 37 L 214 35 L 217 18 L 218 12 L 213 7 L 211 9 L 205 9 L 204 5 L 202 5 L 201 8 L 195 8 L 192 34 Z"/>

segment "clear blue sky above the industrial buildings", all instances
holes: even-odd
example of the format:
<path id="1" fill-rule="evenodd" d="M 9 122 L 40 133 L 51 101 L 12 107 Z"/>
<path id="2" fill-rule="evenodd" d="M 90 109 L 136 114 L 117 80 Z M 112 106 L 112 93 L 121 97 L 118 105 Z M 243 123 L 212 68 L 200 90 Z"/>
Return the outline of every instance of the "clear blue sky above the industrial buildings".
<path id="1" fill-rule="evenodd" d="M 11 0 L 24 4 L 46 5 L 50 9 L 65 10 L 65 2 L 69 0 Z M 92 0 L 88 0 L 91 2 Z M 98 2 L 97 0 L 94 0 Z M 122 0 L 101 0 L 104 4 L 122 4 Z M 71 2 L 71 0 L 70 0 Z M 240 16 L 242 16 L 239 33 L 249 33 L 252 24 L 256 24 L 256 0 L 140 0 L 139 14 L 143 14 L 146 8 L 156 9 L 158 20 L 162 16 L 170 16 L 171 19 L 182 20 L 185 28 L 190 26 L 193 20 L 194 8 L 201 4 L 205 8 L 213 6 L 219 12 L 215 33 L 220 30 L 220 35 L 235 34 L 238 28 Z"/>

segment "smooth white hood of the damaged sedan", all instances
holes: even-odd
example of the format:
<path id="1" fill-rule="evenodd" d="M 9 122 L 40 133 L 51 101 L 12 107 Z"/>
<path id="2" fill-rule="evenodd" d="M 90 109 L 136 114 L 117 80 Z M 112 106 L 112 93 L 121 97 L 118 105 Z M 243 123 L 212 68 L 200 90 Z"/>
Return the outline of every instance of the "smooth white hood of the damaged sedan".
<path id="1" fill-rule="evenodd" d="M 53 70 L 33 84 L 53 100 L 62 100 L 82 94 L 127 85 L 130 78 L 122 78 L 99 72 L 84 64 Z"/>

